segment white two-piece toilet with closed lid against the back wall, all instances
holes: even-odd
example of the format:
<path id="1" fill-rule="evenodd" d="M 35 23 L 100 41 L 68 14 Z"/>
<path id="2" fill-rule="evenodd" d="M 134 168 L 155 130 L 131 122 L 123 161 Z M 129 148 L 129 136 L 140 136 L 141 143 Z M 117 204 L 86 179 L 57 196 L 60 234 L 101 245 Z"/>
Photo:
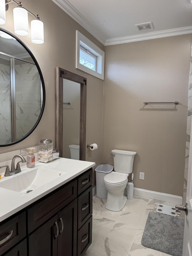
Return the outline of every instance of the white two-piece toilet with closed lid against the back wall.
<path id="1" fill-rule="evenodd" d="M 119 212 L 127 201 L 124 191 L 129 173 L 133 171 L 133 161 L 136 152 L 113 149 L 114 170 L 104 176 L 104 184 L 108 191 L 106 208 Z"/>

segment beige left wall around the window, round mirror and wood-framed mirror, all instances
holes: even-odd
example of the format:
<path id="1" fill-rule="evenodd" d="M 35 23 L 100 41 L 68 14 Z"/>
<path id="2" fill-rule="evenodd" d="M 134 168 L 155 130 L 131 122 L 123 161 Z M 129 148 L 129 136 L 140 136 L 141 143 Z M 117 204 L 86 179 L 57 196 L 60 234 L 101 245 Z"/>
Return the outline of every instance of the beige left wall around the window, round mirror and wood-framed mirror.
<path id="1" fill-rule="evenodd" d="M 55 145 L 55 67 L 60 67 L 87 78 L 86 142 L 97 143 L 100 150 L 93 152 L 87 150 L 86 160 L 94 161 L 97 165 L 101 164 L 103 81 L 75 68 L 76 30 L 102 50 L 104 46 L 51 0 L 25 0 L 23 4 L 32 13 L 38 12 L 44 22 L 44 44 L 33 44 L 30 35 L 18 37 L 32 51 L 41 68 L 46 88 L 45 110 L 38 127 L 28 138 L 13 146 L 1 147 L 0 152 L 32 146 L 38 144 L 42 138 L 52 139 Z M 9 10 L 6 12 L 7 22 L 1 26 L 13 34 L 14 7 L 13 3 L 9 5 Z M 29 15 L 29 23 L 32 18 Z"/>

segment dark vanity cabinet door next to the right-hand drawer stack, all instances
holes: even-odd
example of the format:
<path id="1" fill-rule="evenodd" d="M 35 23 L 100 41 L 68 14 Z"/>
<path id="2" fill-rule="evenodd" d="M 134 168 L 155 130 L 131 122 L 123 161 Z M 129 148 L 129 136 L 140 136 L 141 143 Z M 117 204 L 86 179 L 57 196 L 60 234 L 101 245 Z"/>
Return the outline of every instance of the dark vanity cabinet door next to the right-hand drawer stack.
<path id="1" fill-rule="evenodd" d="M 76 256 L 77 199 L 58 212 L 58 225 L 58 256 Z"/>

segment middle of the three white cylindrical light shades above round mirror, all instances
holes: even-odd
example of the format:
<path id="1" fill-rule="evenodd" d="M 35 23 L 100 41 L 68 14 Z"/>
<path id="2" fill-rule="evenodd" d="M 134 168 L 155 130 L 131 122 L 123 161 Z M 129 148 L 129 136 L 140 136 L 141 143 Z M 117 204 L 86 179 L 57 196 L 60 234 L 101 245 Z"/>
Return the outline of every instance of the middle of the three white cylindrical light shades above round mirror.
<path id="1" fill-rule="evenodd" d="M 29 35 L 28 12 L 22 7 L 13 9 L 14 29 L 17 35 Z"/>

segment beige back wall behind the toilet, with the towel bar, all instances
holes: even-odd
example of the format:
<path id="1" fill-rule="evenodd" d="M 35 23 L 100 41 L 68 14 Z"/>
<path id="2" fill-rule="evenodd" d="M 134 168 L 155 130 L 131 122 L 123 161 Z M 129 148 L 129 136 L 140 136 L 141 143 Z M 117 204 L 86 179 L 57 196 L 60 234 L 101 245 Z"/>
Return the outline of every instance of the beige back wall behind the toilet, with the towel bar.
<path id="1" fill-rule="evenodd" d="M 183 195 L 191 41 L 182 35 L 105 47 L 103 163 L 113 164 L 112 149 L 136 151 L 137 188 Z"/>

